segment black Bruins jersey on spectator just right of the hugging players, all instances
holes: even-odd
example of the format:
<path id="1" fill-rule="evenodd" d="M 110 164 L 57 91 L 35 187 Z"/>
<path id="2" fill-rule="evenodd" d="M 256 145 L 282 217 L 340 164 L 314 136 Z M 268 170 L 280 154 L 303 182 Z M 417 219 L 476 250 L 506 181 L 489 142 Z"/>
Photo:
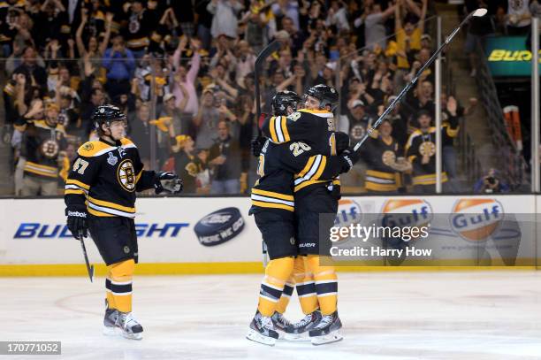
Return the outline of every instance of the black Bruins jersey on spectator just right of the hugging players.
<path id="1" fill-rule="evenodd" d="M 365 178 L 365 188 L 367 190 L 398 190 L 400 172 L 391 167 L 396 162 L 396 158 L 400 156 L 398 142 L 392 138 L 390 142 L 385 142 L 379 135 L 369 137 L 361 148 L 361 155 L 367 164 Z"/>

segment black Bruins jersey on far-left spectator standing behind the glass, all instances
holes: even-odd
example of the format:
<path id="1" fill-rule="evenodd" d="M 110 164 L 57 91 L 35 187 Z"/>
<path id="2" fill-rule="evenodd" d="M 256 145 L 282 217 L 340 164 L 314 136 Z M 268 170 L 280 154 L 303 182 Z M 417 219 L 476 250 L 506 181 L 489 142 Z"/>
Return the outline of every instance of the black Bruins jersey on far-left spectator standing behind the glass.
<path id="1" fill-rule="evenodd" d="M 41 119 L 24 124 L 18 121 L 15 128 L 24 131 L 21 155 L 27 159 L 25 176 L 57 179 L 60 166 L 58 155 L 67 147 L 64 126 L 49 126 Z"/>

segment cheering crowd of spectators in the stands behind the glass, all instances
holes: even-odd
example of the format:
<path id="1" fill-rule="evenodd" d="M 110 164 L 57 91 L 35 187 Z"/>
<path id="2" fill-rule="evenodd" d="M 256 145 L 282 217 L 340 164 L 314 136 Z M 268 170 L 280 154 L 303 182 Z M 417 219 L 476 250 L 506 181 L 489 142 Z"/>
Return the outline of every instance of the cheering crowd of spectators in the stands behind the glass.
<path id="1" fill-rule="evenodd" d="M 425 19 L 432 3 L 6 0 L 0 3 L 0 50 L 16 192 L 47 193 L 23 191 L 20 180 L 34 174 L 28 151 L 40 151 L 28 145 L 41 134 L 29 131 L 32 124 L 55 134 L 57 151 L 46 155 L 57 161 L 61 184 L 76 149 L 95 140 L 90 115 L 103 103 L 126 111 L 127 136 L 146 167 L 181 173 L 187 193 L 249 191 L 256 179 L 249 152 L 256 133 L 256 54 L 275 39 L 282 42 L 260 79 L 264 112 L 270 113 L 277 91 L 302 94 L 309 86 L 331 85 L 340 93 L 339 130 L 356 142 L 431 56 Z M 448 99 L 441 101 L 447 109 Z M 427 70 L 392 113 L 392 137 L 401 149 L 420 113 L 434 118 L 434 102 L 434 74 Z M 458 106 L 459 116 L 465 111 Z M 454 165 L 453 154 L 447 158 L 453 173 L 455 155 Z M 357 170 L 345 186 L 362 187 L 363 165 Z"/>

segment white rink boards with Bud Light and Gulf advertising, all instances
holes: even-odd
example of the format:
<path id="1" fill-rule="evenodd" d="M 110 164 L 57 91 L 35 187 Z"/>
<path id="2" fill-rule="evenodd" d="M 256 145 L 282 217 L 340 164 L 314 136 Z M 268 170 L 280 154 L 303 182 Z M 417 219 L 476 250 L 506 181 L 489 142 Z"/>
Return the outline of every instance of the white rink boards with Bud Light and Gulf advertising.
<path id="1" fill-rule="evenodd" d="M 140 198 L 135 220 L 138 272 L 262 272 L 261 235 L 253 217 L 248 216 L 249 207 L 248 197 Z M 0 200 L 0 216 L 4 219 L 0 224 L 0 276 L 85 274 L 80 242 L 72 239 L 65 228 L 64 209 L 62 199 Z M 470 231 L 460 228 L 464 219 L 472 218 L 475 223 L 469 213 L 486 214 L 491 209 L 507 217 L 496 230 L 485 226 L 491 234 L 480 236 L 484 233 L 477 231 L 472 237 Z M 483 265 L 537 265 L 541 196 L 345 196 L 335 224 L 347 226 L 355 218 L 415 211 L 433 214 L 431 247 L 437 248 L 439 254 L 437 258 L 421 259 L 415 266 L 437 269 L 467 264 L 464 261 L 472 257 L 471 252 L 480 248 L 491 259 Z M 491 241 L 501 246 L 491 246 Z M 90 261 L 101 264 L 89 238 L 87 249 Z M 506 261 L 506 257 L 513 260 Z M 367 258 L 365 263 L 355 263 L 347 270 L 370 271 L 370 265 L 380 264 Z M 401 266 L 400 270 L 413 268 Z M 97 266 L 97 272 L 103 272 L 102 265 Z"/>

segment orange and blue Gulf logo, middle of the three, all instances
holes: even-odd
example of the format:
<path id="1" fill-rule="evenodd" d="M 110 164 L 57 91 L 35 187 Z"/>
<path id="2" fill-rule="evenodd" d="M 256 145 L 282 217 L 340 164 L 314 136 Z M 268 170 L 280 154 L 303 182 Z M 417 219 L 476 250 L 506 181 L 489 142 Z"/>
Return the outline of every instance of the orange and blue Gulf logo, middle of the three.
<path id="1" fill-rule="evenodd" d="M 427 226 L 434 216 L 431 204 L 423 199 L 391 199 L 381 209 L 381 226 Z"/>

